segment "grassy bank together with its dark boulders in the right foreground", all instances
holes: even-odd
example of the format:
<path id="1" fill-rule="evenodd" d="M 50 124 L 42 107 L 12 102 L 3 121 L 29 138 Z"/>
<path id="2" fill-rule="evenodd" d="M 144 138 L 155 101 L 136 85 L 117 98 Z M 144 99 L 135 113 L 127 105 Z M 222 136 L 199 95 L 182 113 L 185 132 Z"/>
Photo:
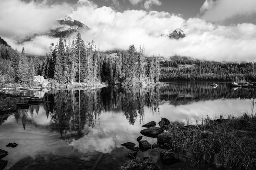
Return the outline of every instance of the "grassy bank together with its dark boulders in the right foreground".
<path id="1" fill-rule="evenodd" d="M 163 165 L 170 166 L 178 162 L 189 162 L 193 168 L 248 169 L 256 165 L 256 115 L 244 114 L 228 119 L 204 119 L 200 125 L 185 125 L 170 122 L 166 118 L 158 123 L 151 121 L 142 125 L 148 127 L 140 133 L 146 137 L 157 138 L 157 144 L 151 145 L 140 139 L 136 151 L 130 152 L 128 160 L 119 170 L 157 170 L 150 158 L 136 159 L 138 152 L 159 147 L 159 157 Z M 132 150 L 124 143 L 123 146 Z"/>

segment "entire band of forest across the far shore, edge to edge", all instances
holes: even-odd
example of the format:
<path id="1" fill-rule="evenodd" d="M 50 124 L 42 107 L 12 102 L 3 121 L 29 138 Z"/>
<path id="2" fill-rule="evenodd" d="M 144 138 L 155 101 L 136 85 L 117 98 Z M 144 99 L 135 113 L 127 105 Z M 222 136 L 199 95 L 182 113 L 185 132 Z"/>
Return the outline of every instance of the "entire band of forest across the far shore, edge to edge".
<path id="1" fill-rule="evenodd" d="M 19 53 L 0 38 L 0 84 L 35 86 L 41 75 L 51 84 L 106 82 L 142 85 L 168 81 L 254 81 L 255 63 L 225 63 L 188 57 L 146 57 L 143 46 L 128 50 L 100 51 L 94 41 L 84 42 L 80 33 L 68 41 L 51 43 L 46 56 Z"/>

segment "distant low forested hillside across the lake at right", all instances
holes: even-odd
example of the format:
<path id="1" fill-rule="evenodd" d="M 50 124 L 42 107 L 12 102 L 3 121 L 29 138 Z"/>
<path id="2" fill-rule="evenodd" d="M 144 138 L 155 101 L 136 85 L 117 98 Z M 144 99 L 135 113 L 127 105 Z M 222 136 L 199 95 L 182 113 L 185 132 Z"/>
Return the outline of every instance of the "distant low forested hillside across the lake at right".
<path id="1" fill-rule="evenodd" d="M 161 81 L 254 81 L 255 63 L 199 60 L 161 61 Z"/>

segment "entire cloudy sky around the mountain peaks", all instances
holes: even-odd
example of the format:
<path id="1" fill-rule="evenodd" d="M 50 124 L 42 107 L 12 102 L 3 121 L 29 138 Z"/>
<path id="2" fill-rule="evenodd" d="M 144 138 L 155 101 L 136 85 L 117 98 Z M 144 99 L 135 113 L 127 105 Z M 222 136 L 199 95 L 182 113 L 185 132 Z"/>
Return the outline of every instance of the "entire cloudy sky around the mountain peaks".
<path id="1" fill-rule="evenodd" d="M 0 37 L 19 51 L 45 55 L 58 39 L 40 33 L 66 15 L 90 27 L 82 38 L 102 51 L 134 44 L 144 45 L 147 56 L 255 61 L 256 0 L 0 0 Z M 161 36 L 176 28 L 186 37 Z"/>

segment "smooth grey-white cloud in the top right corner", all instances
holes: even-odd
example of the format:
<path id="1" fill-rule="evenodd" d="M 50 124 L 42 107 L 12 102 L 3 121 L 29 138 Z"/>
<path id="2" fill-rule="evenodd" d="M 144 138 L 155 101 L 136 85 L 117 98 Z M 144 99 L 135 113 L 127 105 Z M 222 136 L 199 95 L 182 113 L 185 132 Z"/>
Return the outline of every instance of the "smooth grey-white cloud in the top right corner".
<path id="1" fill-rule="evenodd" d="M 201 18 L 208 21 L 224 21 L 236 16 L 256 14 L 255 0 L 206 0 L 200 9 Z"/>

